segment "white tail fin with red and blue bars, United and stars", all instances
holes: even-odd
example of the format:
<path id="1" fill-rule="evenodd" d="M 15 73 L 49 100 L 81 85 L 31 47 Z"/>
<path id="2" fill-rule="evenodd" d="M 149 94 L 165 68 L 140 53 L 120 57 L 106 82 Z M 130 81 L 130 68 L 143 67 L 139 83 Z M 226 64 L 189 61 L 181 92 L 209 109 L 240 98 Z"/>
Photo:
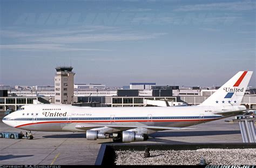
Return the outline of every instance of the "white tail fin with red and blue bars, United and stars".
<path id="1" fill-rule="evenodd" d="M 215 93 L 198 106 L 233 106 L 240 105 L 252 71 L 240 71 L 221 86 Z"/>

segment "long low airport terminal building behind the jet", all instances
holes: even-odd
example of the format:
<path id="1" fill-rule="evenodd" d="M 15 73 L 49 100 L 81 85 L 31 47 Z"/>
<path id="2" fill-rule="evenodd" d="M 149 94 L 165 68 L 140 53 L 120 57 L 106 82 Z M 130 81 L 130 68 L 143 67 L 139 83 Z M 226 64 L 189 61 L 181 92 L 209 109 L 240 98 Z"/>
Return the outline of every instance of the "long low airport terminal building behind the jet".
<path id="1" fill-rule="evenodd" d="M 145 107 L 152 105 L 152 103 L 148 103 L 149 100 L 167 100 L 169 101 L 170 106 L 181 105 L 183 103 L 187 103 L 189 106 L 194 106 L 205 101 L 214 92 L 215 90 L 172 90 L 172 94 L 181 93 L 179 96 L 172 96 L 161 95 L 161 93 L 165 93 L 163 91 L 161 91 L 159 95 L 159 92 L 152 89 L 119 89 L 98 91 L 78 91 L 74 89 L 71 101 L 73 106 L 92 107 Z M 30 90 L 5 90 L 5 94 L 0 94 L 0 111 L 5 111 L 8 108 L 17 110 L 19 107 L 25 104 L 33 104 L 33 101 L 35 100 L 42 103 L 56 103 L 55 92 L 49 90 L 41 92 L 31 92 Z M 173 102 L 173 104 L 170 102 Z M 159 101 L 158 104 L 163 104 L 163 102 L 160 103 Z M 242 100 L 242 104 L 251 108 L 256 108 L 256 95 L 247 92 Z"/>

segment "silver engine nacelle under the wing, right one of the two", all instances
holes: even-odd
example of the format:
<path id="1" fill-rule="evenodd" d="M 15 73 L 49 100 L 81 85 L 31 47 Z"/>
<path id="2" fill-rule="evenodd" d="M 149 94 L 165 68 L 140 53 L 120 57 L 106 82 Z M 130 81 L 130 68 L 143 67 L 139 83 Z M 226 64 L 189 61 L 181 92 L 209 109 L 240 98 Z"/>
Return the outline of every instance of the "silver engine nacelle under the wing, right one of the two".
<path id="1" fill-rule="evenodd" d="M 146 134 L 137 134 L 133 131 L 123 131 L 123 142 L 145 141 L 148 136 Z"/>

